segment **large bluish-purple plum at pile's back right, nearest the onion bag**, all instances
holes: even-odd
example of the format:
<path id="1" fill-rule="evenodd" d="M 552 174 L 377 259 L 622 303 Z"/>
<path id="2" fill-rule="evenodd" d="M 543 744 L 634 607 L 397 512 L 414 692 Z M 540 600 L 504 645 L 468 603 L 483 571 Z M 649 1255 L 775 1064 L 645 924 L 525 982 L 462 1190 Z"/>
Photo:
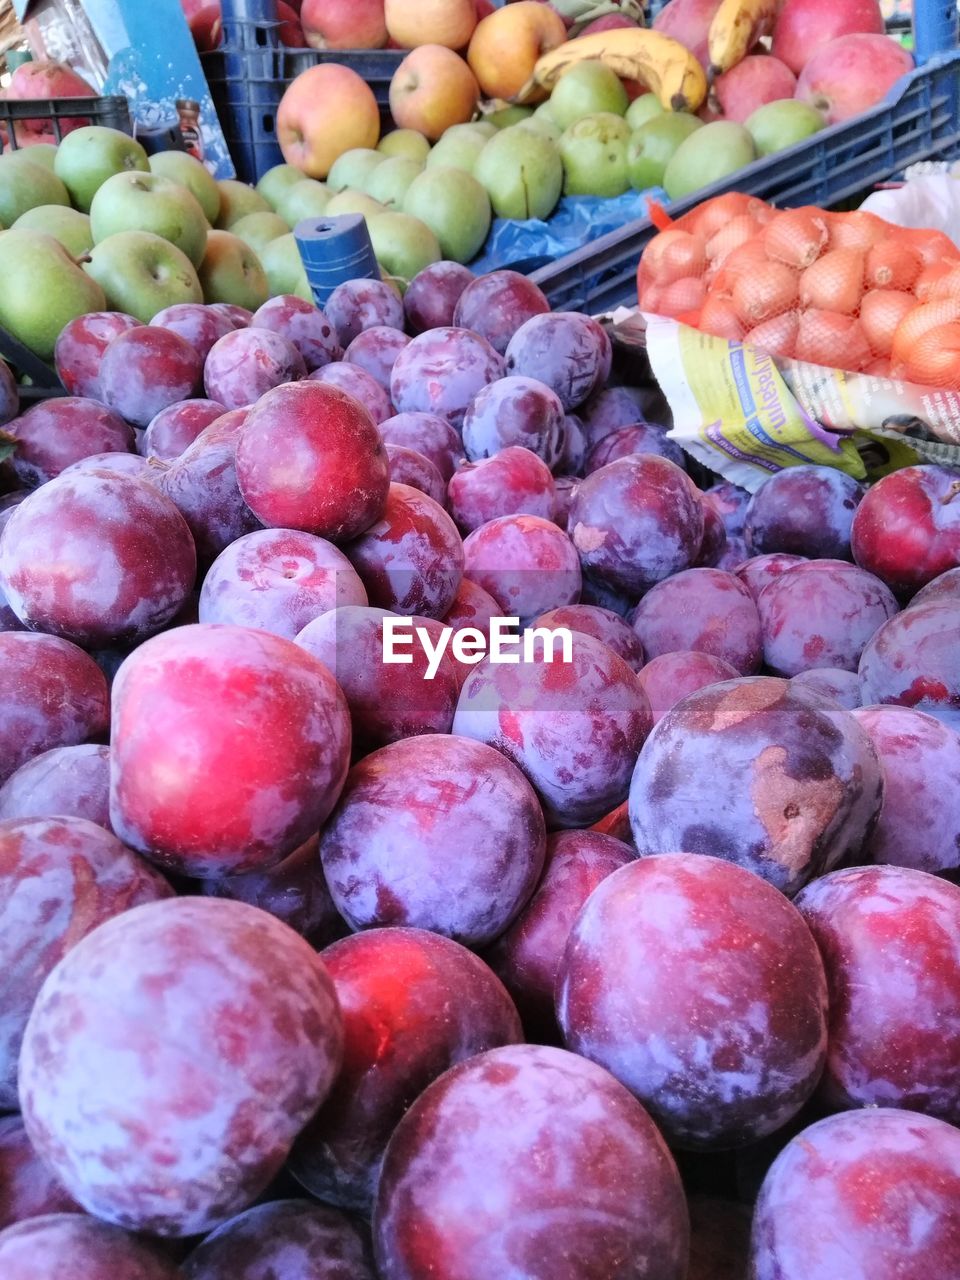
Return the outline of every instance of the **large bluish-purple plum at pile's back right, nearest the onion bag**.
<path id="1" fill-rule="evenodd" d="M 579 311 L 536 315 L 517 329 L 504 356 L 507 372 L 539 378 L 575 410 L 609 376 L 613 349 L 607 330 Z"/>

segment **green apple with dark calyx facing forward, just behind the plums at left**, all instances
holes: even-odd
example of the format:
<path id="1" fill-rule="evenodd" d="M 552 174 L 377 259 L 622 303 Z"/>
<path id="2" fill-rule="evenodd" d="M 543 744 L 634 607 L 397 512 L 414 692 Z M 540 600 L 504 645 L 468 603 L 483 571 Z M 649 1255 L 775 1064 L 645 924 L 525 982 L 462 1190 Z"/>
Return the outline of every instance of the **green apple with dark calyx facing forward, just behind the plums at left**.
<path id="1" fill-rule="evenodd" d="M 204 301 L 191 260 L 152 232 L 108 237 L 93 247 L 84 270 L 101 285 L 111 311 L 125 311 L 143 324 L 175 302 Z"/>

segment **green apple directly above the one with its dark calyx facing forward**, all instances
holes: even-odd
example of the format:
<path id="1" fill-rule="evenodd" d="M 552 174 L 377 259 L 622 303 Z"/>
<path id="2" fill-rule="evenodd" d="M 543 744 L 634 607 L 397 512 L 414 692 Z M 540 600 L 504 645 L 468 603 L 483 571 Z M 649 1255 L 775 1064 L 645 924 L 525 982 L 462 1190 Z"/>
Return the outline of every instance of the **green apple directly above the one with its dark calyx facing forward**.
<path id="1" fill-rule="evenodd" d="M 115 173 L 90 207 L 93 243 L 118 232 L 152 232 L 183 250 L 195 266 L 204 261 L 207 220 L 197 197 L 159 173 Z"/>

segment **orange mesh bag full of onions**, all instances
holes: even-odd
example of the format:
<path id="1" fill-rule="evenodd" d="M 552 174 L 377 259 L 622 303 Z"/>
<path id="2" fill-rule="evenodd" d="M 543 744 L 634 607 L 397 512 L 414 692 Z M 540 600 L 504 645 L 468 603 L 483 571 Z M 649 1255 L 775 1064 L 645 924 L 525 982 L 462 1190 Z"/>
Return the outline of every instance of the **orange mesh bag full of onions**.
<path id="1" fill-rule="evenodd" d="M 644 311 L 774 356 L 960 389 L 960 250 L 942 232 L 742 195 L 658 225 L 637 269 Z"/>

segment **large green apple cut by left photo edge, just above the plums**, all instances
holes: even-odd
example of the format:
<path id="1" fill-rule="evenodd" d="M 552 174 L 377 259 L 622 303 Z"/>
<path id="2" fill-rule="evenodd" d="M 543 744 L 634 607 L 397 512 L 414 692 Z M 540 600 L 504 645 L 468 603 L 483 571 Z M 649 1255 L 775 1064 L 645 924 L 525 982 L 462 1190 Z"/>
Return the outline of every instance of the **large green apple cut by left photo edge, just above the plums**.
<path id="1" fill-rule="evenodd" d="M 41 357 L 54 355 L 60 330 L 88 311 L 104 311 L 104 291 L 63 244 L 42 232 L 0 236 L 0 325 Z"/>

